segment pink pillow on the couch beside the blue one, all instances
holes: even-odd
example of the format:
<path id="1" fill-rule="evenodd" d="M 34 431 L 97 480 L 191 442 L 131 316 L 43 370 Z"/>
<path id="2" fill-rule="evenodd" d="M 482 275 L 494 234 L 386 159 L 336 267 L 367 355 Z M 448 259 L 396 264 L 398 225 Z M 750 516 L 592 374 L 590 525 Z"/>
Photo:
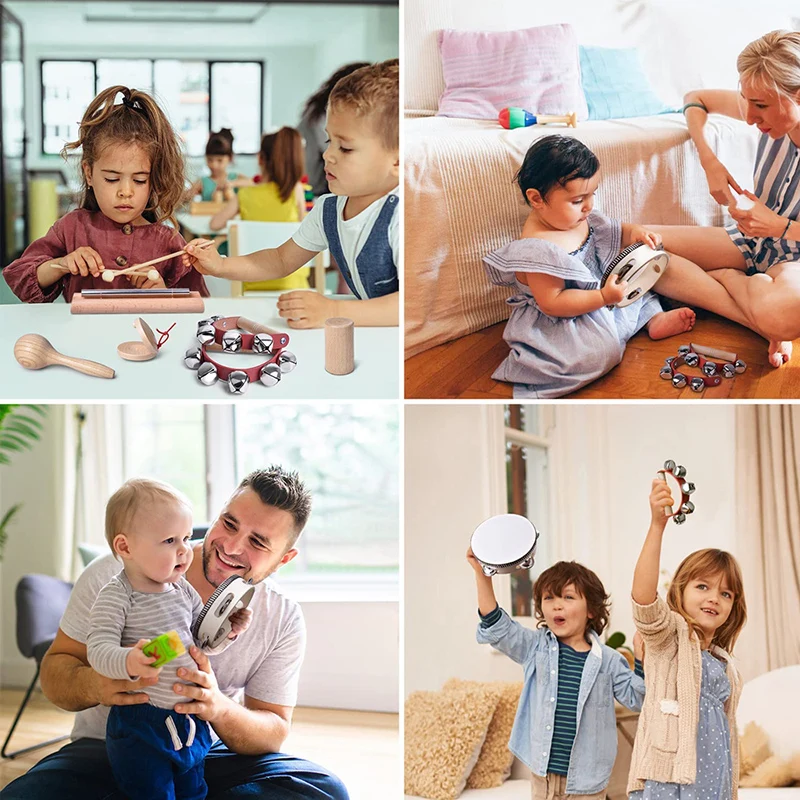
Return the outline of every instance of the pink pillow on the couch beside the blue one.
<path id="1" fill-rule="evenodd" d="M 571 25 L 522 31 L 439 31 L 441 117 L 496 119 L 506 106 L 586 119 L 578 40 Z"/>

